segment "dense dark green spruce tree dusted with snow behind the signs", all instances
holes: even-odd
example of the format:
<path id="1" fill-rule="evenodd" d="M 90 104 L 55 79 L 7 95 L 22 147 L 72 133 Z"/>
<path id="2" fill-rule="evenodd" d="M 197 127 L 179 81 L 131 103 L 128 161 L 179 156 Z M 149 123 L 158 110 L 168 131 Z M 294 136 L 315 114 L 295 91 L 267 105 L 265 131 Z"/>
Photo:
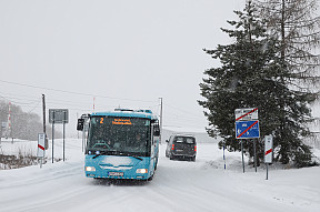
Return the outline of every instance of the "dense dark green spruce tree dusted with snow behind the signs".
<path id="1" fill-rule="evenodd" d="M 209 135 L 220 135 L 229 151 L 239 151 L 236 139 L 234 110 L 259 108 L 260 134 L 273 135 L 276 159 L 282 163 L 294 161 L 297 166 L 311 162 L 310 148 L 301 138 L 309 131 L 304 122 L 311 119 L 309 94 L 291 90 L 283 79 L 291 73 L 282 64 L 281 42 L 267 33 L 266 20 L 258 17 L 257 7 L 248 1 L 243 11 L 236 11 L 238 21 L 228 21 L 234 29 L 222 29 L 234 39 L 228 46 L 204 51 L 219 59 L 221 67 L 204 71 L 199 101 L 207 111 Z M 283 68 L 284 67 L 284 68 Z M 284 123 L 284 124 L 283 124 Z M 243 149 L 253 157 L 252 141 L 243 140 Z M 258 158 L 263 158 L 263 143 L 257 145 Z M 303 157 L 301 157 L 303 155 Z"/>

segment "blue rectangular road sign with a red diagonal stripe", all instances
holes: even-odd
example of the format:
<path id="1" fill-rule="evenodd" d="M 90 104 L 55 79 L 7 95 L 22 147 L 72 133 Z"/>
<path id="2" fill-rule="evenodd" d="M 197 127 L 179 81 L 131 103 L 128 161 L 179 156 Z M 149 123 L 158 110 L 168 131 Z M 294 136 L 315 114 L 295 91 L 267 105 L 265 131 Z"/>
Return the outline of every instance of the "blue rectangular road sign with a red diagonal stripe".
<path id="1" fill-rule="evenodd" d="M 236 121 L 237 139 L 257 139 L 260 138 L 259 121 Z"/>

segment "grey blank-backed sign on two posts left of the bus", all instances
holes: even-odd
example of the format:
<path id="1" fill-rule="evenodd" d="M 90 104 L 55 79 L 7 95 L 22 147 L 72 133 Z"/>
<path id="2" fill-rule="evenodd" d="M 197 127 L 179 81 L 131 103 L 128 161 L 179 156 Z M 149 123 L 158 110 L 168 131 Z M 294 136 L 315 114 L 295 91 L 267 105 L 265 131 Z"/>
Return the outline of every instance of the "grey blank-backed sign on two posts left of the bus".
<path id="1" fill-rule="evenodd" d="M 54 123 L 63 124 L 63 161 L 64 161 L 64 124 L 68 122 L 69 122 L 68 109 L 49 109 L 49 123 L 52 123 L 52 163 L 53 163 Z"/>

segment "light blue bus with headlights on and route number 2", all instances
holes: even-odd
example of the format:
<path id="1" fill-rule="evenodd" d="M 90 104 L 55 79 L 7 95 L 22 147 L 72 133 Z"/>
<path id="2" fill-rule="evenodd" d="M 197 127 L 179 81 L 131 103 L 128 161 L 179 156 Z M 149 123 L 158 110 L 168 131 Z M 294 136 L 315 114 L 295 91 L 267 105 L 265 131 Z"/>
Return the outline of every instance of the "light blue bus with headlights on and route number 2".
<path id="1" fill-rule="evenodd" d="M 83 119 L 78 130 L 83 130 Z M 160 129 L 150 110 L 116 109 L 89 115 L 86 176 L 152 180 L 159 155 Z"/>

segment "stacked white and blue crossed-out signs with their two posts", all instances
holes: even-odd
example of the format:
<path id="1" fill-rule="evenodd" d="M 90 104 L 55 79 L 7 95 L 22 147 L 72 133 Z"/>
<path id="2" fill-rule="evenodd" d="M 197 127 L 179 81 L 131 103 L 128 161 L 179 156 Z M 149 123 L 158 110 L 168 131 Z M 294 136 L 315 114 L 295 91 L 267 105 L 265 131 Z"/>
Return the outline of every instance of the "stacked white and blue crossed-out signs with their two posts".
<path id="1" fill-rule="evenodd" d="M 241 139 L 242 166 L 244 173 L 242 139 L 260 138 L 258 108 L 236 109 L 234 114 L 236 114 L 236 138 Z M 253 140 L 253 151 L 254 151 L 254 168 L 257 172 L 256 140 Z"/>

